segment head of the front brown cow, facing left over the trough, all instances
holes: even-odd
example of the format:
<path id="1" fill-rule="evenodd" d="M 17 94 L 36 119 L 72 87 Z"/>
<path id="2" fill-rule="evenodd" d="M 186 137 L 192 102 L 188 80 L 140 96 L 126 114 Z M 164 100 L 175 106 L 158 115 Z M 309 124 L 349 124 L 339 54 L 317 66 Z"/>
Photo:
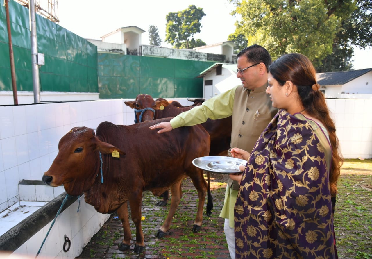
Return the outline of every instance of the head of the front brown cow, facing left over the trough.
<path id="1" fill-rule="evenodd" d="M 61 138 L 57 157 L 42 179 L 53 187 L 63 184 L 70 195 L 80 195 L 93 185 L 97 172 L 100 172 L 99 152 L 111 154 L 115 150 L 125 154 L 119 148 L 100 141 L 93 129 L 75 127 Z"/>

